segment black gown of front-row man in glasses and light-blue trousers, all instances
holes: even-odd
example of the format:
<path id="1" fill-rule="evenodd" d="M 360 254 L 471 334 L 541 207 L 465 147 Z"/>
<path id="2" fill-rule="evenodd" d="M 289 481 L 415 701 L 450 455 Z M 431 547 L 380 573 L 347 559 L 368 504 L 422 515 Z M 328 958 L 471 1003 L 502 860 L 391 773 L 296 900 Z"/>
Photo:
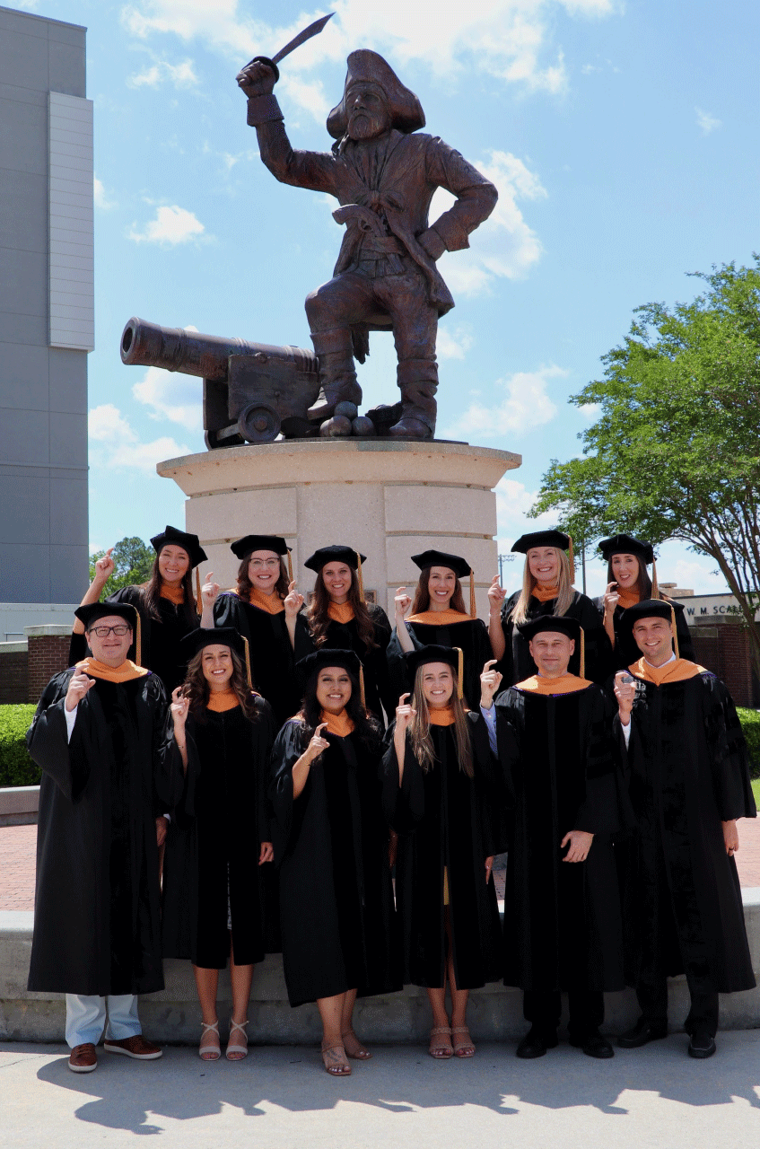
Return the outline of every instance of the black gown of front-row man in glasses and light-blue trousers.
<path id="1" fill-rule="evenodd" d="M 29 988 L 152 993 L 164 986 L 155 819 L 183 785 L 163 753 L 166 696 L 156 674 L 98 679 L 67 745 L 72 673 L 51 679 L 26 735 L 42 770 Z"/>

